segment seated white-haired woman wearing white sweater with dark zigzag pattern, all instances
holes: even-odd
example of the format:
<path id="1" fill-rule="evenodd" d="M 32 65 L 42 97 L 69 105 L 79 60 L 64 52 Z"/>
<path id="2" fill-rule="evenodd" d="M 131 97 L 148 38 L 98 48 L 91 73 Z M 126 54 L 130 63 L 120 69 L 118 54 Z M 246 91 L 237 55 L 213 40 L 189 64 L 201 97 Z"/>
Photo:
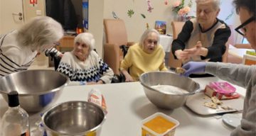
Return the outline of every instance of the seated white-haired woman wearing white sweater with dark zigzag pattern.
<path id="1" fill-rule="evenodd" d="M 80 33 L 75 37 L 72 52 L 65 52 L 58 72 L 67 75 L 73 84 L 107 84 L 114 72 L 93 50 L 95 39 L 91 33 Z"/>

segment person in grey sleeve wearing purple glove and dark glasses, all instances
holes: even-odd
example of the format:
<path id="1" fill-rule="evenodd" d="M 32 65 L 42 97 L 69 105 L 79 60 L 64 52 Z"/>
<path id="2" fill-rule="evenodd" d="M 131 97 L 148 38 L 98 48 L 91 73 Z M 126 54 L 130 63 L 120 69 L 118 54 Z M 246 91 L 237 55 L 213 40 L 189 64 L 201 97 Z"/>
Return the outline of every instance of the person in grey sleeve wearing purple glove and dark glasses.
<path id="1" fill-rule="evenodd" d="M 241 25 L 235 28 L 243 35 L 256 50 L 256 4 L 255 0 L 234 0 L 236 11 L 239 13 Z M 220 79 L 230 81 L 246 89 L 242 111 L 242 120 L 231 136 L 256 135 L 256 66 L 243 64 L 228 64 L 222 62 L 189 62 L 183 66 L 184 76 L 193 72 L 206 72 Z"/>

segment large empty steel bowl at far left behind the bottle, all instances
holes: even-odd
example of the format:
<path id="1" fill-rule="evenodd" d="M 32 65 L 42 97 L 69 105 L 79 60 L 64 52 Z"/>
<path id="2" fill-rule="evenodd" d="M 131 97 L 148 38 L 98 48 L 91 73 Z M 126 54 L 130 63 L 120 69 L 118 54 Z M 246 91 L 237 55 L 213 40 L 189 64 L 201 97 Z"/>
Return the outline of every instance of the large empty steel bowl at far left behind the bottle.
<path id="1" fill-rule="evenodd" d="M 6 101 L 10 91 L 18 91 L 20 105 L 28 113 L 50 106 L 69 83 L 68 77 L 53 70 L 26 70 L 0 79 L 0 93 Z"/>

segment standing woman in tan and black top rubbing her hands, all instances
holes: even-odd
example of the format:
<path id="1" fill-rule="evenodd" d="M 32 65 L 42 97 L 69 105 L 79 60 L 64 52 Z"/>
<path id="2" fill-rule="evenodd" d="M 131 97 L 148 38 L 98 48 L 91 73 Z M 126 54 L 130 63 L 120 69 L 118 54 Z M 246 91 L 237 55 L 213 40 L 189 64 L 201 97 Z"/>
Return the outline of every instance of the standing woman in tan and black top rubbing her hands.
<path id="1" fill-rule="evenodd" d="M 186 21 L 178 38 L 172 42 L 171 52 L 183 64 L 196 62 L 222 62 L 230 28 L 217 18 L 220 0 L 196 0 L 196 18 Z M 207 77 L 192 74 L 191 77 Z"/>

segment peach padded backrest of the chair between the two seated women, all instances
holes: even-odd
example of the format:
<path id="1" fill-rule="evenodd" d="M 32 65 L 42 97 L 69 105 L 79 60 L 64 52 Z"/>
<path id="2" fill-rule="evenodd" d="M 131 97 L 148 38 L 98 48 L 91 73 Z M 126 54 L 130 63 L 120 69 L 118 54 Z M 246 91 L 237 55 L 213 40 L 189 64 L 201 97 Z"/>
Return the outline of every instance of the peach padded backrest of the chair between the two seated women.
<path id="1" fill-rule="evenodd" d="M 127 30 L 122 19 L 104 19 L 106 42 L 114 45 L 127 45 Z"/>

